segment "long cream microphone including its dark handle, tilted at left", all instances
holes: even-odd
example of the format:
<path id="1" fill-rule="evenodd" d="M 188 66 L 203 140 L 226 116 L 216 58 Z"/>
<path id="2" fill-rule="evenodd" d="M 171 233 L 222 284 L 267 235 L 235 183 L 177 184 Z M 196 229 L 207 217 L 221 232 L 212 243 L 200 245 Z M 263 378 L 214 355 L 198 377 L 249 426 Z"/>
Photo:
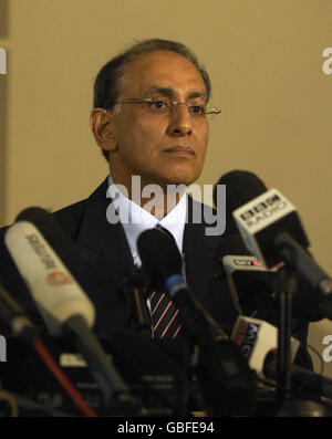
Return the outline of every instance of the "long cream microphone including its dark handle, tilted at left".
<path id="1" fill-rule="evenodd" d="M 19 216 L 4 236 L 6 245 L 25 281 L 32 297 L 42 314 L 51 335 L 69 333 L 77 349 L 87 362 L 92 375 L 112 408 L 122 410 L 137 409 L 138 403 L 107 357 L 98 341 L 90 330 L 94 324 L 95 311 L 79 283 L 64 266 L 44 237 L 32 222 L 52 230 L 52 241 L 61 245 L 65 238 L 52 216 L 40 208 L 30 208 Z M 65 249 L 66 250 L 66 249 Z M 111 399 L 114 398 L 114 400 Z"/>

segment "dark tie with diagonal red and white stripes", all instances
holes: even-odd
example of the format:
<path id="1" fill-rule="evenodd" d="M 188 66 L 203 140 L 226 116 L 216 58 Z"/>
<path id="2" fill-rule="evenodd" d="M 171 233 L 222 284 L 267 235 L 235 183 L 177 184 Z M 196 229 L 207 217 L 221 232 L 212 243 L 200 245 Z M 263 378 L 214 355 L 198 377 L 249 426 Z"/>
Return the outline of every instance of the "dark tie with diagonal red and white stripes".
<path id="1" fill-rule="evenodd" d="M 167 234 L 170 239 L 174 239 L 172 233 L 162 226 L 156 226 L 156 229 Z M 149 300 L 154 336 L 156 338 L 163 338 L 165 336 L 167 338 L 175 338 L 181 327 L 179 310 L 165 293 L 155 291 L 152 293 Z"/>

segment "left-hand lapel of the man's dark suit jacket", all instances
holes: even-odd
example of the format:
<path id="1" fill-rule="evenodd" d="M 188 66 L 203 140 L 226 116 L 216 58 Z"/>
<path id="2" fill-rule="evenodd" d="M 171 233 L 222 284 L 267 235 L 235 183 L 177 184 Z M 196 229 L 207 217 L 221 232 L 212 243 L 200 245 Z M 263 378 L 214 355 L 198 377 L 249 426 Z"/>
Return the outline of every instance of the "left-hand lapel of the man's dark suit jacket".
<path id="1" fill-rule="evenodd" d="M 85 200 L 72 250 L 72 272 L 91 296 L 100 336 L 126 330 L 128 310 L 120 294 L 120 278 L 133 268 L 133 258 L 122 224 L 110 223 L 107 179 Z"/>

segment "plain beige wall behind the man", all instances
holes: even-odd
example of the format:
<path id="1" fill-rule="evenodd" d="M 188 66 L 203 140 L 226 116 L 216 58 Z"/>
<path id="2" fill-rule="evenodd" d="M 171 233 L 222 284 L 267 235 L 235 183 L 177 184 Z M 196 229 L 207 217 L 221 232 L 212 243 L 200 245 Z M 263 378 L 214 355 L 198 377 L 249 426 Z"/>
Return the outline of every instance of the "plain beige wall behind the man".
<path id="1" fill-rule="evenodd" d="M 249 169 L 299 209 L 332 274 L 331 0 L 0 0 L 0 226 L 24 207 L 86 197 L 107 167 L 89 128 L 97 70 L 134 40 L 193 48 L 211 74 L 211 126 L 200 184 Z M 3 10 L 2 10 L 3 11 Z M 330 321 L 311 325 L 321 354 Z M 317 362 L 319 368 L 319 362 Z M 324 375 L 332 377 L 332 363 Z"/>

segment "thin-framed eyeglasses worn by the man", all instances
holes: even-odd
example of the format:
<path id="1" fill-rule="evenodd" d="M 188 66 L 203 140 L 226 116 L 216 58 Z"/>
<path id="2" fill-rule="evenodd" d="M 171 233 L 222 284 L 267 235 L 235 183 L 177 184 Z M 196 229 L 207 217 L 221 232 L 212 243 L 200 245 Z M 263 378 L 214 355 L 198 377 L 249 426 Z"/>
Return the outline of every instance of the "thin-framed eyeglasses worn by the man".
<path id="1" fill-rule="evenodd" d="M 191 117 L 196 119 L 201 119 L 206 118 L 208 116 L 209 119 L 211 119 L 216 114 L 219 114 L 221 111 L 217 108 L 206 108 L 204 104 L 190 104 L 186 102 L 177 102 L 177 101 L 170 101 L 167 100 L 166 97 L 163 98 L 153 98 L 153 97 L 147 97 L 147 98 L 141 98 L 141 97 L 132 97 L 132 98 L 125 98 L 121 101 L 115 102 L 115 111 L 116 106 L 124 104 L 124 103 L 131 103 L 131 104 L 146 104 L 145 109 L 147 113 L 155 115 L 155 116 L 164 116 L 164 115 L 169 115 L 170 113 L 175 112 L 178 107 L 178 105 L 183 104 L 186 105 L 188 113 Z"/>

